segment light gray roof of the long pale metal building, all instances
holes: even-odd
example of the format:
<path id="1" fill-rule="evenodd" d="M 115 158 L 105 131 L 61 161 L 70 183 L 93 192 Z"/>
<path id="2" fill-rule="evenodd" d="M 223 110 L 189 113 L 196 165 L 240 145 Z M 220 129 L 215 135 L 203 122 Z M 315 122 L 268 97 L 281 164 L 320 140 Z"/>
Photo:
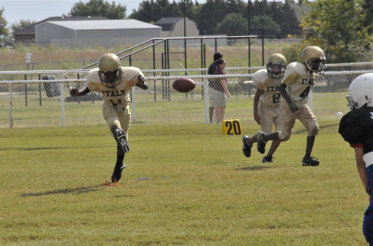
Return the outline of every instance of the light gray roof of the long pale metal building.
<path id="1" fill-rule="evenodd" d="M 156 25 L 134 19 L 126 20 L 100 20 L 100 21 L 48 21 L 51 24 L 70 28 L 73 30 L 97 30 L 97 29 L 140 29 L 159 28 Z"/>

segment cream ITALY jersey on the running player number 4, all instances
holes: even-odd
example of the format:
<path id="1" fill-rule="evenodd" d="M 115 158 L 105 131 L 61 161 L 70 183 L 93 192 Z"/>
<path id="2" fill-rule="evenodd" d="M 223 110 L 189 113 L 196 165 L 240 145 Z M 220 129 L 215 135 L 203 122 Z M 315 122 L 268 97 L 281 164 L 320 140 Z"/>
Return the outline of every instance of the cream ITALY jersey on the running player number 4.
<path id="1" fill-rule="evenodd" d="M 319 76 L 314 72 L 308 74 L 308 70 L 302 63 L 290 63 L 281 83 L 286 84 L 286 92 L 291 100 L 298 106 L 307 103 L 308 93 L 314 85 L 314 76 Z"/>

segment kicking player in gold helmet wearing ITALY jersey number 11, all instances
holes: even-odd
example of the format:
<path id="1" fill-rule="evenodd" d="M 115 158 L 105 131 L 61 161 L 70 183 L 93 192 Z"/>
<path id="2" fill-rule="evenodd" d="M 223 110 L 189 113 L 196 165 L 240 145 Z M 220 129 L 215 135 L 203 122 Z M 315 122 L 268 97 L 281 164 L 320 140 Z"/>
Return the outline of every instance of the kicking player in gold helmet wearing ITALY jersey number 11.
<path id="1" fill-rule="evenodd" d="M 144 74 L 138 68 L 121 67 L 119 58 L 112 53 L 106 53 L 98 60 L 98 68 L 88 73 L 86 87 L 72 88 L 70 95 L 83 96 L 91 91 L 103 94 L 103 116 L 109 125 L 113 137 L 117 141 L 117 161 L 112 175 L 112 182 L 122 177 L 123 159 L 129 151 L 128 129 L 131 122 L 129 92 L 137 86 L 143 90 L 148 88 Z"/>

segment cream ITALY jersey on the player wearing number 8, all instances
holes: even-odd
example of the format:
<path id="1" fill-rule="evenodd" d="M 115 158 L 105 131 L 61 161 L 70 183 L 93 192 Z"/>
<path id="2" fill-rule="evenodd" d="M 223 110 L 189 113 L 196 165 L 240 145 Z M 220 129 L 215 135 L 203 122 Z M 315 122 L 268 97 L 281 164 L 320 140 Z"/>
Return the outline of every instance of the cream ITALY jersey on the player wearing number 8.
<path id="1" fill-rule="evenodd" d="M 260 69 L 253 75 L 253 84 L 263 91 L 259 101 L 268 106 L 275 106 L 281 102 L 279 86 L 282 78 L 274 79 L 268 76 L 267 69 Z"/>

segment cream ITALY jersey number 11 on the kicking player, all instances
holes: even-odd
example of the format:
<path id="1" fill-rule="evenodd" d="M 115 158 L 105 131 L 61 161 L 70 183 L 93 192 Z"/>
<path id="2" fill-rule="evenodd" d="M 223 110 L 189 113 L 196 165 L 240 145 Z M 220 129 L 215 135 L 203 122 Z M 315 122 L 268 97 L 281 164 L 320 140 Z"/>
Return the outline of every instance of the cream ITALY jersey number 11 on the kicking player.
<path id="1" fill-rule="evenodd" d="M 116 108 L 125 108 L 131 102 L 129 90 L 136 85 L 139 74 L 144 76 L 138 68 L 122 67 L 122 76 L 119 84 L 115 88 L 107 88 L 102 84 L 98 76 L 98 68 L 94 68 L 88 73 L 85 86 L 91 91 L 102 93 L 104 102 L 108 105 Z"/>

